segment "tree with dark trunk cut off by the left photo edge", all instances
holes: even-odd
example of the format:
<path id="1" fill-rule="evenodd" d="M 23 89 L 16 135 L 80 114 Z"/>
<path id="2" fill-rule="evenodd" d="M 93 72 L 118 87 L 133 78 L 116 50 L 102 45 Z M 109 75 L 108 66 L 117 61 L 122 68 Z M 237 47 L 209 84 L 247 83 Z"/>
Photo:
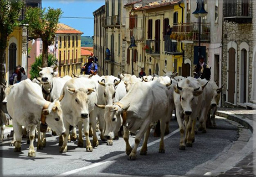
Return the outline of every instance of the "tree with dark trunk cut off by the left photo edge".
<path id="1" fill-rule="evenodd" d="M 0 84 L 5 83 L 4 63 L 6 61 L 6 48 L 8 36 L 14 28 L 19 26 L 19 12 L 23 7 L 23 1 L 0 0 Z"/>

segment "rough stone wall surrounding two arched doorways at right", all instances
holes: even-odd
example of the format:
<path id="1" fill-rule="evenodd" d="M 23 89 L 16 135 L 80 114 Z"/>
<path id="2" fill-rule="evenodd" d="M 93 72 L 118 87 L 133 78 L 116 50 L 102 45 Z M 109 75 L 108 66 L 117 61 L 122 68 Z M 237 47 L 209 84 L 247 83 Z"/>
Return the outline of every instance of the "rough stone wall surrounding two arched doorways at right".
<path id="1" fill-rule="evenodd" d="M 228 83 L 227 78 L 227 62 L 228 62 L 228 43 L 230 41 L 234 41 L 237 43 L 237 63 L 235 67 L 237 68 L 237 101 L 239 101 L 239 66 L 240 66 L 240 44 L 242 42 L 247 42 L 249 45 L 249 100 L 250 100 L 250 93 L 252 92 L 252 57 L 253 57 L 253 24 L 237 24 L 232 22 L 223 22 L 223 45 L 222 45 L 222 83 Z M 223 90 L 226 90 L 226 86 Z M 225 92 L 223 92 L 225 93 Z M 230 106 L 223 102 L 226 98 L 224 98 L 224 94 L 222 94 L 222 105 L 223 106 Z"/>

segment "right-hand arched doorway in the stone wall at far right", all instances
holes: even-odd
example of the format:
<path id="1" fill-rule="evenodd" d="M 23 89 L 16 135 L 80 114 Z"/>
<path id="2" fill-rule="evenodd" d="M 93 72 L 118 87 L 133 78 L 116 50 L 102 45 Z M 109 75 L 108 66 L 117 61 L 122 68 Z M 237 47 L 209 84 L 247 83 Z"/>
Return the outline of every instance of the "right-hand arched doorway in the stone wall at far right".
<path id="1" fill-rule="evenodd" d="M 240 55 L 240 103 L 247 102 L 247 50 L 242 49 Z"/>

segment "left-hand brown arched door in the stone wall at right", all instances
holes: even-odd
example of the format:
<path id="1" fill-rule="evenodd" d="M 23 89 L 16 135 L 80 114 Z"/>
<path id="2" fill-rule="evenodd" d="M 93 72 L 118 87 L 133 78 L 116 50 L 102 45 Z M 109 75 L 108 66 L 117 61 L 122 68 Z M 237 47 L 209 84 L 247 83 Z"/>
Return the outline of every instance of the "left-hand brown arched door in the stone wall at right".
<path id="1" fill-rule="evenodd" d="M 228 50 L 228 102 L 234 104 L 235 94 L 235 49 Z"/>

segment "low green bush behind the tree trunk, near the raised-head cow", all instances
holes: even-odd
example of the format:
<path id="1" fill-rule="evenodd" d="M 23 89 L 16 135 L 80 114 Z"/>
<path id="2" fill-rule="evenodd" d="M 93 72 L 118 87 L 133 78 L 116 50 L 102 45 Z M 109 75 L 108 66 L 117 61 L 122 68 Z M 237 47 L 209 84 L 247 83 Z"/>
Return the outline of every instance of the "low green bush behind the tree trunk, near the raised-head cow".
<path id="1" fill-rule="evenodd" d="M 55 65 L 56 61 L 57 59 L 52 54 L 49 53 L 48 60 L 47 60 L 47 67 Z M 38 66 L 40 67 L 41 65 L 42 65 L 42 54 L 40 54 L 37 58 L 35 58 L 35 62 L 31 66 L 31 70 L 29 72 L 31 75 L 31 79 L 39 77 Z"/>

